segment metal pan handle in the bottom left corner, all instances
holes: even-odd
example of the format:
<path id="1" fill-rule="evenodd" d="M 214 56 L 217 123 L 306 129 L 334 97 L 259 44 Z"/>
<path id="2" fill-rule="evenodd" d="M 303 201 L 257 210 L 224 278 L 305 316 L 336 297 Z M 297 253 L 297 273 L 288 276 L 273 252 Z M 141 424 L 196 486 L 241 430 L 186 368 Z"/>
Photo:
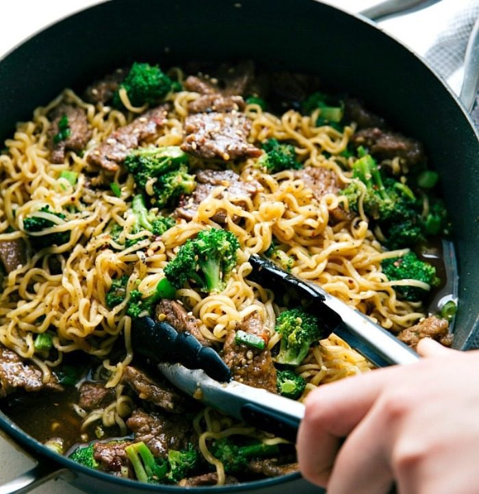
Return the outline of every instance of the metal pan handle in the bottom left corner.
<path id="1" fill-rule="evenodd" d="M 55 464 L 52 465 L 52 462 L 47 459 L 38 460 L 36 467 L 1 485 L 0 494 L 27 493 L 47 480 L 57 480 L 60 477 L 68 482 L 73 480 L 75 475 L 68 469 L 59 468 Z"/>

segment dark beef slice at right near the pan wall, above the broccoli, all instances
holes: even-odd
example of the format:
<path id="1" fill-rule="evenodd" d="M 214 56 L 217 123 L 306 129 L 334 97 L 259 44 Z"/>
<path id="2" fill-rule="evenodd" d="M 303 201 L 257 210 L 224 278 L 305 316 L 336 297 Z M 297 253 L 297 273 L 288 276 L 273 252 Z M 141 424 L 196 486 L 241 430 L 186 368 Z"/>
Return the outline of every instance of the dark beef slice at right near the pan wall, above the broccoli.
<path id="1" fill-rule="evenodd" d="M 356 132 L 351 137 L 351 143 L 355 147 L 367 147 L 372 156 L 380 160 L 392 160 L 399 156 L 409 166 L 415 166 L 426 158 L 419 141 L 396 132 L 385 132 L 378 127 Z"/>

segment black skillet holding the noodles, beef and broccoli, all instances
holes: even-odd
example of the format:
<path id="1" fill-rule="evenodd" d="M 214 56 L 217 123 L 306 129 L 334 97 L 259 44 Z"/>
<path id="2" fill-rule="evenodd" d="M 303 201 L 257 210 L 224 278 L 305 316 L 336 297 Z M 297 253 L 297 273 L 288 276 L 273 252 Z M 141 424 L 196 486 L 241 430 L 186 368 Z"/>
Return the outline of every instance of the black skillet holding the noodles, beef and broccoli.
<path id="1" fill-rule="evenodd" d="M 5 19 L 3 19 L 5 22 Z M 361 16 L 313 0 L 115 0 L 36 34 L 0 62 L 0 140 L 64 87 L 81 90 L 133 60 L 161 66 L 186 60 L 253 58 L 261 66 L 318 73 L 324 86 L 362 97 L 406 135 L 426 145 L 454 223 L 461 279 L 454 345 L 478 327 L 478 134 L 450 88 L 424 62 Z M 3 414 L 0 428 L 38 466 L 0 494 L 63 477 L 90 493 L 179 492 L 108 476 L 59 457 Z M 199 487 L 198 493 L 211 492 Z M 214 489 L 218 493 L 321 492 L 298 474 Z"/>

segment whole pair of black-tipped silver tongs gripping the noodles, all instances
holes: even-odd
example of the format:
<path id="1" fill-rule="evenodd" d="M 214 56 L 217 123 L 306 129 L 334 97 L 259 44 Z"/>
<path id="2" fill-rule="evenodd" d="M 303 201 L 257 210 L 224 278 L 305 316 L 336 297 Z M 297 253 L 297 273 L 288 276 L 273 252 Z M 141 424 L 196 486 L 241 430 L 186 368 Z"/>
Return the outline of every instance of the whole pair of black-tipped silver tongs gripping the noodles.
<path id="1" fill-rule="evenodd" d="M 417 354 L 360 312 L 346 306 L 319 286 L 300 280 L 261 256 L 250 256 L 249 280 L 283 291 L 320 319 L 327 334 L 335 332 L 375 365 L 408 364 Z M 325 334 L 326 336 L 326 334 Z M 218 353 L 189 333 L 179 333 L 164 321 L 142 317 L 133 321 L 131 343 L 136 354 L 174 386 L 222 412 L 290 441 L 296 439 L 305 406 L 292 399 L 232 381 Z"/>

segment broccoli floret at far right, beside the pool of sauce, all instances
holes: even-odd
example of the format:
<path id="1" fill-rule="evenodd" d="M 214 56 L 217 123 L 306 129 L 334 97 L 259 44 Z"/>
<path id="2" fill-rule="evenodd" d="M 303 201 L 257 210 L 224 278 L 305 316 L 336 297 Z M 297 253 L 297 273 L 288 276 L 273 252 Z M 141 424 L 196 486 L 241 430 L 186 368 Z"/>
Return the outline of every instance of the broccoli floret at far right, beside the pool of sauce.
<path id="1" fill-rule="evenodd" d="M 390 281 L 419 280 L 431 287 L 438 286 L 441 283 L 441 280 L 436 276 L 435 267 L 418 259 L 414 252 L 409 252 L 400 258 L 385 259 L 381 262 L 381 267 Z M 394 289 L 402 298 L 409 301 L 424 299 L 428 293 L 418 286 L 395 286 Z"/>

